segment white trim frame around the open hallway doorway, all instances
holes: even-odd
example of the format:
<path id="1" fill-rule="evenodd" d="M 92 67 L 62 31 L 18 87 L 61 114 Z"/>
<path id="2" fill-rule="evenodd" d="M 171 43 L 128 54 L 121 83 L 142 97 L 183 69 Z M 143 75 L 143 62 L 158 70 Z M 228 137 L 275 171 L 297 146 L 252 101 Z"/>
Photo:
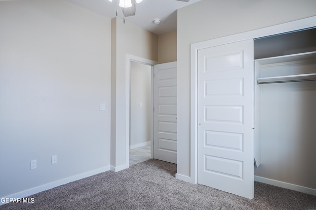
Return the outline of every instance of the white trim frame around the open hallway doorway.
<path id="1" fill-rule="evenodd" d="M 126 100 L 125 100 L 125 148 L 122 146 L 121 150 L 125 150 L 125 164 L 126 168 L 129 167 L 129 141 L 130 141 L 130 61 L 138 62 L 145 65 L 151 66 L 151 132 L 150 132 L 150 141 L 151 141 L 151 157 L 154 156 L 154 65 L 158 64 L 157 61 L 144 59 L 138 56 L 133 56 L 126 54 Z"/>

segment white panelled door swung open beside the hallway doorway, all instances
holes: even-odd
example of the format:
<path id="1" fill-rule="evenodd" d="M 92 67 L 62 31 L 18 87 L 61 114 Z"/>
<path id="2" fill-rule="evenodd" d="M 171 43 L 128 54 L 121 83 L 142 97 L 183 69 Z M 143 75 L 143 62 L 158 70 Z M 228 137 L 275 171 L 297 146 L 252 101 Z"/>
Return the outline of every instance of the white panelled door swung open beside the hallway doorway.
<path id="1" fill-rule="evenodd" d="M 177 62 L 154 66 L 154 158 L 177 163 Z"/>

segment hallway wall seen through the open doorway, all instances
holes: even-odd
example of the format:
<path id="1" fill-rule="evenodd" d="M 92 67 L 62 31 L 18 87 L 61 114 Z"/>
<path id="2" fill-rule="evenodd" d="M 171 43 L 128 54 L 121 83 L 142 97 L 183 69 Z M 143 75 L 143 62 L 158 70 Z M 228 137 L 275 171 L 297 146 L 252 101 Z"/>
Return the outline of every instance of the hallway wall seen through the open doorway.
<path id="1" fill-rule="evenodd" d="M 150 142 L 151 66 L 130 62 L 130 147 Z"/>

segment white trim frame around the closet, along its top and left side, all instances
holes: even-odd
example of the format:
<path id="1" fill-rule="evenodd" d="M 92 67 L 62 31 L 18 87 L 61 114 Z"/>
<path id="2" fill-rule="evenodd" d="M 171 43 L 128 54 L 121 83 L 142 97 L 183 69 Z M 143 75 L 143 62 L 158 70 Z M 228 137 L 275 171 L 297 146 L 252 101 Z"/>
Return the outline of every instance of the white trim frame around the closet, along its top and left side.
<path id="1" fill-rule="evenodd" d="M 235 35 L 211 39 L 191 44 L 191 107 L 190 107 L 190 182 L 197 183 L 197 53 L 198 50 L 229 44 L 238 41 L 256 39 L 271 36 L 279 33 L 286 33 L 295 30 L 303 30 L 316 27 L 316 16 L 293 22 L 279 24 L 267 28 L 251 30 Z"/>

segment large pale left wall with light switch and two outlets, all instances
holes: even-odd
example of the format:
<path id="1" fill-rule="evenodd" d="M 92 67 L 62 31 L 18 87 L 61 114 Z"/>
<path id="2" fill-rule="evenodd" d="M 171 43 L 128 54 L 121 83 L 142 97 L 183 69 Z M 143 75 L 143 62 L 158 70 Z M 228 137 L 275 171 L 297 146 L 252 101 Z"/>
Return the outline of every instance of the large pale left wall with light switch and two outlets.
<path id="1" fill-rule="evenodd" d="M 63 0 L 0 1 L 0 197 L 109 168 L 110 27 Z"/>

